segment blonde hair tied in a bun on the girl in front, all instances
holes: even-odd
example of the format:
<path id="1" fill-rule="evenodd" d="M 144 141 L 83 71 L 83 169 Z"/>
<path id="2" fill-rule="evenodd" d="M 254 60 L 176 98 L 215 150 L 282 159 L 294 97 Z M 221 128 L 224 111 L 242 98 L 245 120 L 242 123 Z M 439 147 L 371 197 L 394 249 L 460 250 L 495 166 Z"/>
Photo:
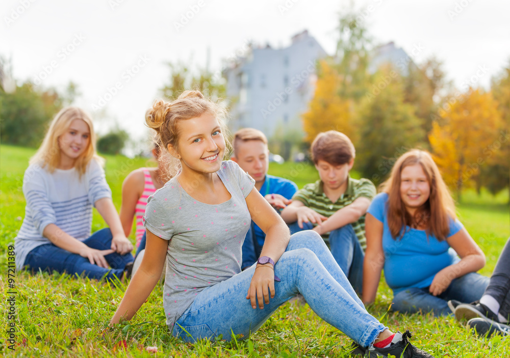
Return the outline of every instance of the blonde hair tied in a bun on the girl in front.
<path id="1" fill-rule="evenodd" d="M 184 91 L 176 100 L 168 102 L 158 99 L 147 109 L 145 113 L 145 123 L 148 127 L 155 129 L 154 141 L 160 147 L 160 161 L 167 179 L 174 177 L 181 170 L 180 160 L 175 159 L 168 153 L 170 144 L 175 150 L 179 151 L 179 127 L 180 121 L 200 117 L 204 113 L 209 113 L 218 120 L 223 136 L 226 138 L 228 129 L 225 124 L 226 111 L 217 103 L 205 98 L 200 91 Z M 225 139 L 227 152 L 230 152 L 231 145 Z"/>

